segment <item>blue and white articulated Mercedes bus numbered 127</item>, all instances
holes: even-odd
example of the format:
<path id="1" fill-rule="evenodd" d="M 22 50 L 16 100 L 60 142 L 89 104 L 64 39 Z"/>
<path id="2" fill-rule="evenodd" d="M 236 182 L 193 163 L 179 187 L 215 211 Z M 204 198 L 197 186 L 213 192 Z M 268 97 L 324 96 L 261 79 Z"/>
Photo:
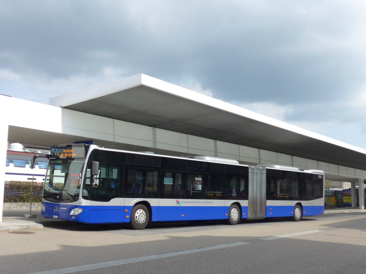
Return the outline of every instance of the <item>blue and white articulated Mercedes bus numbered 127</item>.
<path id="1" fill-rule="evenodd" d="M 46 155 L 36 155 L 36 157 Z M 89 224 L 227 220 L 324 213 L 324 172 L 174 157 L 96 145 L 56 145 L 48 155 L 42 216 Z"/>

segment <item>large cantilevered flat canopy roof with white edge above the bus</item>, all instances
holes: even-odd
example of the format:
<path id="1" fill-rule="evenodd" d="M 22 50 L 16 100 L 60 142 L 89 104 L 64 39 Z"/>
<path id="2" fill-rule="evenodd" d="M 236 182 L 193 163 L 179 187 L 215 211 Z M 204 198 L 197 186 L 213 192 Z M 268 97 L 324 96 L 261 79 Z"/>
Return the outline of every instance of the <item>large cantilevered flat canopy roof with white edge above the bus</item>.
<path id="1" fill-rule="evenodd" d="M 139 74 L 50 99 L 53 106 L 365 170 L 366 150 Z"/>

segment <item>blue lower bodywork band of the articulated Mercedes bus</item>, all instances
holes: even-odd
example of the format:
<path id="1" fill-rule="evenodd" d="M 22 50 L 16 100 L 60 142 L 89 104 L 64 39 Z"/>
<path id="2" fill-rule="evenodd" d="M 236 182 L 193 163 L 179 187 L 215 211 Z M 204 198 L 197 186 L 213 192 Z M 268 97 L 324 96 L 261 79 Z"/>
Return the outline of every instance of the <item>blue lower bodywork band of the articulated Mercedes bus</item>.
<path id="1" fill-rule="evenodd" d="M 46 218 L 56 218 L 89 224 L 128 223 L 131 220 L 132 206 L 81 206 L 43 202 Z M 83 211 L 71 216 L 74 208 Z M 151 220 L 155 221 L 193 221 L 228 219 L 229 206 L 152 206 Z M 241 218 L 248 218 L 248 207 L 241 207 Z M 303 206 L 303 216 L 320 215 L 324 206 Z M 291 217 L 294 206 L 266 206 L 266 217 Z"/>

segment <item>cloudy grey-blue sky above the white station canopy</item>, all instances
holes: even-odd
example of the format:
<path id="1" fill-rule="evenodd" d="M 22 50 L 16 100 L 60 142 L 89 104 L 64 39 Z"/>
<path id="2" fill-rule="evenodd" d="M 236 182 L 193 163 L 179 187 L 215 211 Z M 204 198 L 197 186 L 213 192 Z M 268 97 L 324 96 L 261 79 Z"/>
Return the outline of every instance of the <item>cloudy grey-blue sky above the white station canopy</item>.
<path id="1" fill-rule="evenodd" d="M 366 148 L 366 2 L 0 0 L 0 94 L 144 73 Z"/>

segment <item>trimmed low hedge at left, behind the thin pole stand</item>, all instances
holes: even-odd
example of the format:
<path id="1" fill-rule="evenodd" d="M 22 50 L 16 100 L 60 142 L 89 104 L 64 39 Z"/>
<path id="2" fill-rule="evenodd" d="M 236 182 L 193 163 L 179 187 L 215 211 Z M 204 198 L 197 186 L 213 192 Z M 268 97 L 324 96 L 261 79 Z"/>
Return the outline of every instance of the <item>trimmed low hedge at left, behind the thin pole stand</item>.
<path id="1" fill-rule="evenodd" d="M 31 182 L 6 182 L 4 203 L 30 202 Z M 32 202 L 42 202 L 43 183 L 33 183 Z"/>

